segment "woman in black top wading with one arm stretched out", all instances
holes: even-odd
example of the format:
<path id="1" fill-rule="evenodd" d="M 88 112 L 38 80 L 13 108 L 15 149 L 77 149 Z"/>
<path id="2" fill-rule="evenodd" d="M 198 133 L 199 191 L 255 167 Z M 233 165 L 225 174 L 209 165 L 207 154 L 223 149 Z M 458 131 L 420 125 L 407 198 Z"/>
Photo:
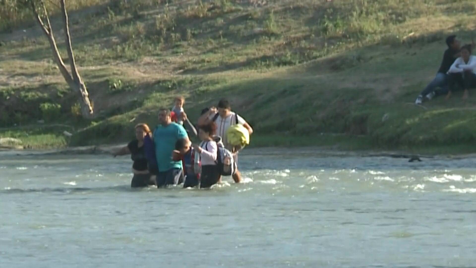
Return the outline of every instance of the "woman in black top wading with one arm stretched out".
<path id="1" fill-rule="evenodd" d="M 147 124 L 136 125 L 136 139 L 131 141 L 127 146 L 122 147 L 112 155 L 131 155 L 132 161 L 132 182 L 131 187 L 147 187 L 155 185 L 155 178 L 149 173 L 147 168 L 147 158 L 144 153 L 144 137 L 150 135 L 150 129 Z"/>

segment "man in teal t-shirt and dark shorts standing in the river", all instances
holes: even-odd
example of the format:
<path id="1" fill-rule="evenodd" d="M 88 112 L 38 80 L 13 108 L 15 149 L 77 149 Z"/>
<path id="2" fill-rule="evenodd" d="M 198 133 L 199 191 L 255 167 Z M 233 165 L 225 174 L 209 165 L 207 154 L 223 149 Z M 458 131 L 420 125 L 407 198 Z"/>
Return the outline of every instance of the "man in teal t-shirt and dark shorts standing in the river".
<path id="1" fill-rule="evenodd" d="M 159 125 L 154 130 L 155 154 L 159 173 L 156 176 L 157 187 L 182 183 L 182 162 L 172 159 L 172 151 L 179 139 L 188 140 L 183 126 L 173 123 L 169 109 L 159 110 Z"/>

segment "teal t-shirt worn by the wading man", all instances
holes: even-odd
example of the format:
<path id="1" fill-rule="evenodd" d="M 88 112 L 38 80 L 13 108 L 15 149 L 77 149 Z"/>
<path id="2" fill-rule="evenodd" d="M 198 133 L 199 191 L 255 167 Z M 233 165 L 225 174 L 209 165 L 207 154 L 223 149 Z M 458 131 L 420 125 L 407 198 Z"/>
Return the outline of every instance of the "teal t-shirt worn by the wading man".
<path id="1" fill-rule="evenodd" d="M 182 161 L 172 160 L 172 151 L 179 139 L 187 138 L 187 131 L 177 123 L 168 126 L 158 125 L 154 130 L 155 154 L 159 172 L 165 172 L 172 168 L 182 168 Z"/>

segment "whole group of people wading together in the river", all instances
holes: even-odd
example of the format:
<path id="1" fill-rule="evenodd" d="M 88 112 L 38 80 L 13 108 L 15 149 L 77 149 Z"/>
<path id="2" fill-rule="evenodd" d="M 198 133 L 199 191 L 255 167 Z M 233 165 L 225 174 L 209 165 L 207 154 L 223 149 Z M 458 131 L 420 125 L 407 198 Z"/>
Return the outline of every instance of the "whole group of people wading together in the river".
<path id="1" fill-rule="evenodd" d="M 219 183 L 222 175 L 241 181 L 238 152 L 249 143 L 251 126 L 231 111 L 227 100 L 220 100 L 217 107 L 202 110 L 197 131 L 184 112 L 184 102 L 177 97 L 172 110 L 159 109 L 159 124 L 153 133 L 147 124 L 137 124 L 136 139 L 113 153 L 131 155 L 131 187 L 183 184 L 208 188 Z M 192 144 L 192 134 L 200 143 Z"/>

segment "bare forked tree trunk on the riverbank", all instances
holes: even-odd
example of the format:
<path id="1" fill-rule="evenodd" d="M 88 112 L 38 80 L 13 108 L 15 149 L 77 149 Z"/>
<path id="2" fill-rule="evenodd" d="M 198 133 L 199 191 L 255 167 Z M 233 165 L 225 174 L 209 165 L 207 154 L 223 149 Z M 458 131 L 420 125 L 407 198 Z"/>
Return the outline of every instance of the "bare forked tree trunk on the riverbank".
<path id="1" fill-rule="evenodd" d="M 86 85 L 84 84 L 84 82 L 81 80 L 81 77 L 79 76 L 78 69 L 76 68 L 76 62 L 74 61 L 73 50 L 71 47 L 71 38 L 69 35 L 68 14 L 66 12 L 64 0 L 61 0 L 61 12 L 63 14 L 63 22 L 65 24 L 66 50 L 68 51 L 69 63 L 71 66 L 71 74 L 68 72 L 68 69 L 66 69 L 63 59 L 61 59 L 61 55 L 58 50 L 55 37 L 53 35 L 53 30 L 51 28 L 50 17 L 48 16 L 48 11 L 46 10 L 45 5 L 43 4 L 42 1 L 40 2 L 41 8 L 44 12 L 44 16 L 47 22 L 46 25 L 41 19 L 41 16 L 38 13 L 37 7 L 35 6 L 34 2 L 30 1 L 30 3 L 31 3 L 31 10 L 35 14 L 35 19 L 40 24 L 41 29 L 43 30 L 46 37 L 48 38 L 48 41 L 50 42 L 50 48 L 51 48 L 51 51 L 53 52 L 53 59 L 58 65 L 61 75 L 63 75 L 63 78 L 68 83 L 69 87 L 72 90 L 77 91 L 80 95 L 81 113 L 83 117 L 84 118 L 92 117 L 93 108 L 92 108 L 91 102 L 89 101 L 88 90 L 86 89 Z"/>

